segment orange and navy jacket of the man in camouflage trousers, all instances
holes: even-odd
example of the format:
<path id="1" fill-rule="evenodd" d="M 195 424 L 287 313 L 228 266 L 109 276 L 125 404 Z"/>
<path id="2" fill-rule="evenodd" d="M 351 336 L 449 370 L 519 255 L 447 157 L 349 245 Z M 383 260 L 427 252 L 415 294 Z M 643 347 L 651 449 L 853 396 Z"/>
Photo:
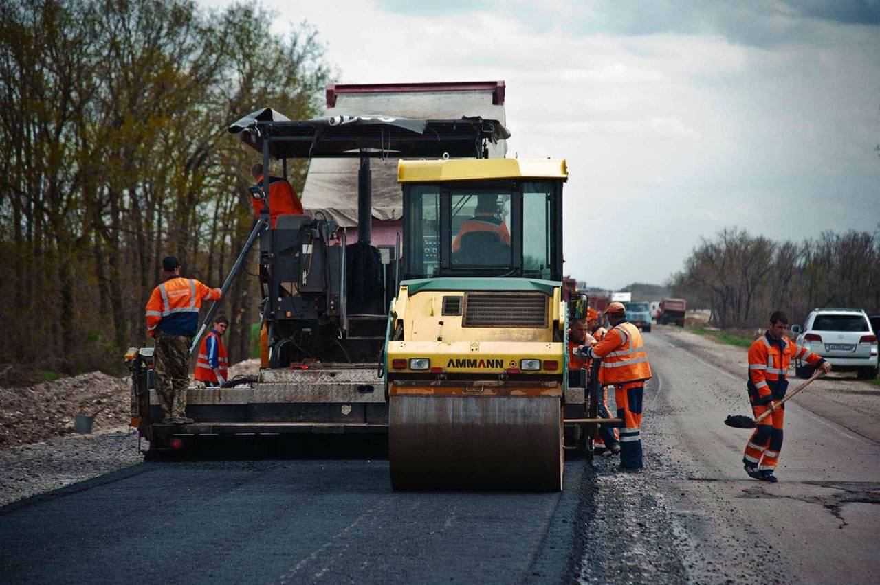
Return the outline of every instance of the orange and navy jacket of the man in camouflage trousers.
<path id="1" fill-rule="evenodd" d="M 174 276 L 158 285 L 147 301 L 147 333 L 165 331 L 172 336 L 195 335 L 202 300 L 220 300 L 220 289 L 209 288 L 194 278 Z"/>

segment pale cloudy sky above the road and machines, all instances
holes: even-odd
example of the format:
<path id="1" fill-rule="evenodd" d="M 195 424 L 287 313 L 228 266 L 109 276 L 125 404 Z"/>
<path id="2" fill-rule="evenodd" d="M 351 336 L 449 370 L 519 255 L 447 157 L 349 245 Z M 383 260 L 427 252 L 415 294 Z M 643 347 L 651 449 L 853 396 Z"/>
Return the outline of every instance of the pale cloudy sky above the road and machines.
<path id="1" fill-rule="evenodd" d="M 317 27 L 340 83 L 504 80 L 509 155 L 568 160 L 590 285 L 662 283 L 725 226 L 880 223 L 880 0 L 264 5 Z"/>

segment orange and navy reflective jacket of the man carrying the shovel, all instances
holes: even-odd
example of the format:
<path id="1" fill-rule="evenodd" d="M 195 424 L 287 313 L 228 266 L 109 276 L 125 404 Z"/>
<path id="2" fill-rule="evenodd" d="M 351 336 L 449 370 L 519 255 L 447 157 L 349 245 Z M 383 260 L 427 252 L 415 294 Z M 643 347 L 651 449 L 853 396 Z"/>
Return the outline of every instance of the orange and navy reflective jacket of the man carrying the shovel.
<path id="1" fill-rule="evenodd" d="M 765 403 L 769 397 L 781 400 L 788 389 L 788 364 L 792 358 L 803 359 L 808 364 L 819 365 L 825 360 L 805 347 L 781 337 L 778 341 L 766 333 L 749 348 L 749 394 L 755 404 Z"/>

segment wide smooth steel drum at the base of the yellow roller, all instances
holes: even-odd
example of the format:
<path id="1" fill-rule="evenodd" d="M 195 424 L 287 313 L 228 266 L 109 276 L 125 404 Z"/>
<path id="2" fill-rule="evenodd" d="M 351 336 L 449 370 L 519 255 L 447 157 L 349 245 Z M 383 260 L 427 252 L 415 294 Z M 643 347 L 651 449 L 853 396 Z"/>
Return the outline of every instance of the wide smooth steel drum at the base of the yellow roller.
<path id="1" fill-rule="evenodd" d="M 392 395 L 394 489 L 562 488 L 560 396 Z"/>

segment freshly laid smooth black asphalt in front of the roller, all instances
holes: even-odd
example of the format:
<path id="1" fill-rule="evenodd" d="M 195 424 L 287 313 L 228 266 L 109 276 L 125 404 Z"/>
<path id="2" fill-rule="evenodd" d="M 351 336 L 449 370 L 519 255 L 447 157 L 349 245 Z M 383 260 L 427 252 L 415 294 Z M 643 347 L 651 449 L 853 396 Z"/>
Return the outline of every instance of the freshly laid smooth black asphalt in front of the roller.
<path id="1" fill-rule="evenodd" d="M 387 461 L 143 463 L 0 510 L 0 581 L 565 581 L 583 470 L 396 493 Z"/>

